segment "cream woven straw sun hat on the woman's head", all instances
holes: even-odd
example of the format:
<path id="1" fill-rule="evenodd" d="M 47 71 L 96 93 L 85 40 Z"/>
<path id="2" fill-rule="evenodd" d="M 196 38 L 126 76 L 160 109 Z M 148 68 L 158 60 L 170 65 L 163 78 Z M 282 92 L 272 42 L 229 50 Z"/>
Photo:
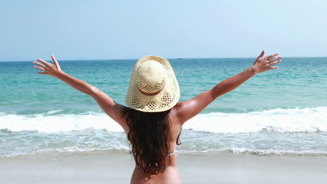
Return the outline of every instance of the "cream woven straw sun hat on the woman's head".
<path id="1" fill-rule="evenodd" d="M 144 56 L 131 73 L 126 105 L 141 112 L 163 112 L 180 99 L 180 87 L 170 63 L 159 56 Z"/>

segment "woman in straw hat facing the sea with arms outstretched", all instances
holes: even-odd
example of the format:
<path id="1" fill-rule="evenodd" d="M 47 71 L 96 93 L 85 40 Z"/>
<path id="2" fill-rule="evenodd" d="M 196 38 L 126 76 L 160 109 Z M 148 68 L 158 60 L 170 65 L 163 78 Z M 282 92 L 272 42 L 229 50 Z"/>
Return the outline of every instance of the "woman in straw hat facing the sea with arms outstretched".
<path id="1" fill-rule="evenodd" d="M 131 183 L 180 183 L 176 168 L 176 146 L 182 125 L 196 116 L 220 95 L 237 88 L 260 72 L 277 69 L 282 57 L 264 51 L 247 70 L 225 79 L 213 89 L 191 100 L 178 102 L 180 89 L 170 63 L 159 56 L 145 56 L 138 60 L 131 74 L 126 105 L 117 104 L 96 87 L 75 79 L 60 69 L 51 56 L 52 63 L 37 59 L 34 68 L 41 75 L 50 75 L 91 95 L 108 116 L 124 129 L 131 143 L 131 153 L 136 167 Z"/>

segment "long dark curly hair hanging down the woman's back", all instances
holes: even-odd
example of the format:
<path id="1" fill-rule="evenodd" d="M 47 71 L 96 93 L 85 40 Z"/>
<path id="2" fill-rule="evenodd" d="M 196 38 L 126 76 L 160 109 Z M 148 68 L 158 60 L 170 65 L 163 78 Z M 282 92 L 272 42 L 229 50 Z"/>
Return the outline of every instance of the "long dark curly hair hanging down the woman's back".
<path id="1" fill-rule="evenodd" d="M 131 153 L 136 166 L 143 169 L 144 173 L 157 174 L 166 169 L 168 156 L 168 131 L 170 119 L 165 112 L 140 112 L 129 107 L 126 108 L 126 122 L 129 126 L 127 138 L 130 141 Z M 180 135 L 176 144 L 180 145 Z M 171 163 L 170 156 L 168 157 Z"/>

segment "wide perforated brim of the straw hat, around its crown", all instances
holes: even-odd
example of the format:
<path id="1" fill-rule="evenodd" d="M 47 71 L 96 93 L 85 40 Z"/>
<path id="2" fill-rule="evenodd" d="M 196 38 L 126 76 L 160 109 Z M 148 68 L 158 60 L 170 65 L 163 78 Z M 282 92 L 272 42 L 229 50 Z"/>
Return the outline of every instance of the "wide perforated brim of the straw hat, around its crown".
<path id="1" fill-rule="evenodd" d="M 149 60 L 161 63 L 166 72 L 166 84 L 157 95 L 144 95 L 140 93 L 136 84 L 136 70 L 138 66 Z M 163 112 L 173 108 L 179 99 L 180 87 L 175 77 L 175 72 L 166 59 L 159 56 L 144 56 L 136 62 L 131 73 L 129 90 L 127 91 L 125 99 L 125 103 L 128 107 L 141 112 Z"/>

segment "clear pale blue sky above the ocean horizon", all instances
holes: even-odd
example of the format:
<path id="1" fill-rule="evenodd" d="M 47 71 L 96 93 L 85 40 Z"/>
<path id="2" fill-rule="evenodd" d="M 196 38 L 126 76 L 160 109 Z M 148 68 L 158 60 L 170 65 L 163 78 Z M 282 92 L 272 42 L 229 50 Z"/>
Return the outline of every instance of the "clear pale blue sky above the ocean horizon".
<path id="1" fill-rule="evenodd" d="M 0 61 L 327 56 L 327 1 L 1 1 Z"/>

